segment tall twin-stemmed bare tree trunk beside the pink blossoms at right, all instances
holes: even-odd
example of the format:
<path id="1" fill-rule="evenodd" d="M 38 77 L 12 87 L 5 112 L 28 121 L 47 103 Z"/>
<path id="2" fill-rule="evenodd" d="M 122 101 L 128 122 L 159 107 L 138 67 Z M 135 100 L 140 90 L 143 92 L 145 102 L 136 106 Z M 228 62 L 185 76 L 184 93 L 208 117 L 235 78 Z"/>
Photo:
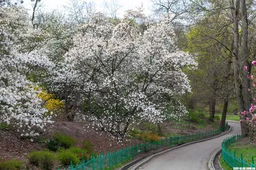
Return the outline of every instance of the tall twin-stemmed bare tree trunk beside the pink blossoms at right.
<path id="1" fill-rule="evenodd" d="M 241 8 L 241 20 L 242 20 L 242 35 L 241 39 L 241 53 L 239 55 L 239 16 Z M 236 6 L 234 0 L 230 0 L 230 9 L 233 22 L 234 44 L 233 48 L 233 66 L 234 66 L 234 80 L 236 86 L 236 97 L 239 106 L 239 111 L 249 110 L 250 108 L 250 93 L 248 89 L 250 87 L 250 81 L 245 77 L 246 71 L 243 71 L 243 65 L 248 66 L 248 22 L 245 0 L 236 0 Z M 240 65 L 242 64 L 242 65 Z M 243 80 L 241 80 L 242 76 Z M 243 82 L 243 83 L 242 83 Z M 241 117 L 240 117 L 241 119 Z M 241 132 L 243 136 L 248 135 L 248 127 L 243 122 L 241 123 Z"/>

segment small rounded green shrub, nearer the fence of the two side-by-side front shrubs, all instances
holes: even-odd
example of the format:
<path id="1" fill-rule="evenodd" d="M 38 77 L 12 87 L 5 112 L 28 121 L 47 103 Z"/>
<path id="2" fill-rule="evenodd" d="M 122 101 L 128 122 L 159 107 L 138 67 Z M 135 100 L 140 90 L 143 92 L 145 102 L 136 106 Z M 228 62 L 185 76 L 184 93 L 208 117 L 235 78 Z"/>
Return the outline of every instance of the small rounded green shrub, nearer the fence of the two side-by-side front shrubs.
<path id="1" fill-rule="evenodd" d="M 58 152 L 58 160 L 63 166 L 69 166 L 71 161 L 72 164 L 79 163 L 77 154 L 73 153 L 71 150 L 60 150 Z"/>

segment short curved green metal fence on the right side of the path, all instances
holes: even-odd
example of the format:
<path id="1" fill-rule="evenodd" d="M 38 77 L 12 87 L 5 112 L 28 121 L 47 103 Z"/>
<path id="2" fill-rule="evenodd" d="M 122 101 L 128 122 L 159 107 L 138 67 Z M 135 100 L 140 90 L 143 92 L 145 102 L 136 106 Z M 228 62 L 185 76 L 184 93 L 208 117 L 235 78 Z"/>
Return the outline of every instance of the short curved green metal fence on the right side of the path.
<path id="1" fill-rule="evenodd" d="M 228 146 L 230 146 L 236 140 L 241 138 L 241 134 L 236 134 L 224 139 L 224 141 L 221 144 L 221 157 L 232 169 L 233 167 L 256 167 L 256 164 L 254 164 L 253 161 L 253 157 L 251 158 L 251 164 L 249 164 L 248 162 L 244 161 L 242 154 L 237 156 L 236 152 L 232 152 L 231 150 L 228 149 Z"/>

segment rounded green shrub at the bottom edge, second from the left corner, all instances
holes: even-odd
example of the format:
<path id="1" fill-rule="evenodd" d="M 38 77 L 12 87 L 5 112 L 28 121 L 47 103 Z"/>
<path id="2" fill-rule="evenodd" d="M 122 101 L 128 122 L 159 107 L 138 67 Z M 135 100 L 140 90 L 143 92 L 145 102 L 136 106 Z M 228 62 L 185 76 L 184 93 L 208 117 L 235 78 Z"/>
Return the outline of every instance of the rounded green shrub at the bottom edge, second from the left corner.
<path id="1" fill-rule="evenodd" d="M 33 151 L 28 154 L 28 159 L 30 164 L 39 166 L 45 170 L 52 169 L 54 167 L 54 163 L 56 162 L 54 153 L 49 152 L 48 150 Z"/>

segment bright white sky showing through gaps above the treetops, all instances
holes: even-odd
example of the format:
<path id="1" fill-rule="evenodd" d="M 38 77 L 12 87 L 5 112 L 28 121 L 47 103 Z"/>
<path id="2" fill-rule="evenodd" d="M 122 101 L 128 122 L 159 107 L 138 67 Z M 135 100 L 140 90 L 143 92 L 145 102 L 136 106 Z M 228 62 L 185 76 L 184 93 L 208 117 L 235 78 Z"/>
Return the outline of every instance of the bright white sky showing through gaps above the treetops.
<path id="1" fill-rule="evenodd" d="M 106 0 L 110 2 L 110 0 Z M 67 5 L 68 0 L 41 0 L 41 2 L 45 6 L 45 10 L 53 10 L 53 9 L 63 9 L 63 5 Z M 93 2 L 97 5 L 98 11 L 103 11 L 104 7 L 104 0 L 93 0 Z M 34 4 L 35 2 L 33 2 Z M 124 15 L 125 10 L 129 9 L 135 9 L 138 6 L 141 6 L 143 4 L 144 13 L 145 15 L 150 14 L 150 0 L 119 0 L 118 3 L 122 6 L 120 10 L 118 10 L 118 17 L 122 17 Z M 27 8 L 33 10 L 31 7 L 31 0 L 24 0 L 24 6 Z"/>

